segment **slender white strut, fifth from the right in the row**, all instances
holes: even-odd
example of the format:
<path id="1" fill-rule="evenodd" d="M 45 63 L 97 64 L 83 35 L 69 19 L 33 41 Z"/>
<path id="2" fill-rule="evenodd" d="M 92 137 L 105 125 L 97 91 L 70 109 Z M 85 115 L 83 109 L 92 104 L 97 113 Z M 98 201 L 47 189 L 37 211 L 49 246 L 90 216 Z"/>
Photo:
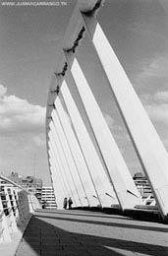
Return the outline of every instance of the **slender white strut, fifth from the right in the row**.
<path id="1" fill-rule="evenodd" d="M 78 173 L 77 165 L 75 164 L 75 161 L 72 157 L 69 145 L 67 143 L 64 131 L 62 129 L 62 126 L 60 124 L 60 120 L 58 118 L 58 115 L 57 115 L 55 109 L 52 111 L 51 116 L 53 118 L 53 122 L 55 123 L 55 128 L 56 128 L 57 134 L 60 138 L 60 142 L 62 144 L 63 151 L 66 155 L 66 159 L 67 159 L 69 167 L 71 169 L 71 173 L 72 173 L 74 182 L 76 184 L 76 188 L 77 188 L 77 191 L 78 191 L 78 195 L 79 195 L 79 198 L 80 198 L 81 205 L 84 206 L 85 205 L 85 199 L 84 199 L 85 195 L 84 195 L 83 185 L 82 185 L 79 173 Z"/>

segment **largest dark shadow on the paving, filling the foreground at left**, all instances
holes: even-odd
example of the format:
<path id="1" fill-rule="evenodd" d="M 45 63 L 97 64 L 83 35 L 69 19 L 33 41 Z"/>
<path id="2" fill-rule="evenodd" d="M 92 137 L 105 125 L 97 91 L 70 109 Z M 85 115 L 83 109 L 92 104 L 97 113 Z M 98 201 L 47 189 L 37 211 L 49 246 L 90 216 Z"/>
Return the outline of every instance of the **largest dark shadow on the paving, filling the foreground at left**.
<path id="1" fill-rule="evenodd" d="M 15 256 L 123 256 L 104 245 L 104 238 L 69 232 L 32 217 Z"/>

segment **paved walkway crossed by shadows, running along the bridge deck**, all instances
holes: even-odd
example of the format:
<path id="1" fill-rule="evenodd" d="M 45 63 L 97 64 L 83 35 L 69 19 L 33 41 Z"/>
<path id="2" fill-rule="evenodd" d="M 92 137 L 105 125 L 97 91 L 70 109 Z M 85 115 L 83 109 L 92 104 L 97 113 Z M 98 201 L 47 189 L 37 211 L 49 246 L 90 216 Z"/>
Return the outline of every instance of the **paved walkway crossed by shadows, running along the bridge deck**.
<path id="1" fill-rule="evenodd" d="M 16 256 L 168 256 L 168 225 L 83 211 L 36 212 Z"/>

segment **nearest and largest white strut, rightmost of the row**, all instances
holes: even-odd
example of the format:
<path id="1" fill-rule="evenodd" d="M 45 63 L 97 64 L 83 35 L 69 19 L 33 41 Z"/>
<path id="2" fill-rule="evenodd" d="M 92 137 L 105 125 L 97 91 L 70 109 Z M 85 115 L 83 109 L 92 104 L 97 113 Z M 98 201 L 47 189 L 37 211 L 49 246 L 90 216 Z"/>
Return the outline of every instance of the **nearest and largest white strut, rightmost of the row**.
<path id="1" fill-rule="evenodd" d="M 93 17 L 83 17 L 164 217 L 168 214 L 168 154 L 100 25 Z"/>

